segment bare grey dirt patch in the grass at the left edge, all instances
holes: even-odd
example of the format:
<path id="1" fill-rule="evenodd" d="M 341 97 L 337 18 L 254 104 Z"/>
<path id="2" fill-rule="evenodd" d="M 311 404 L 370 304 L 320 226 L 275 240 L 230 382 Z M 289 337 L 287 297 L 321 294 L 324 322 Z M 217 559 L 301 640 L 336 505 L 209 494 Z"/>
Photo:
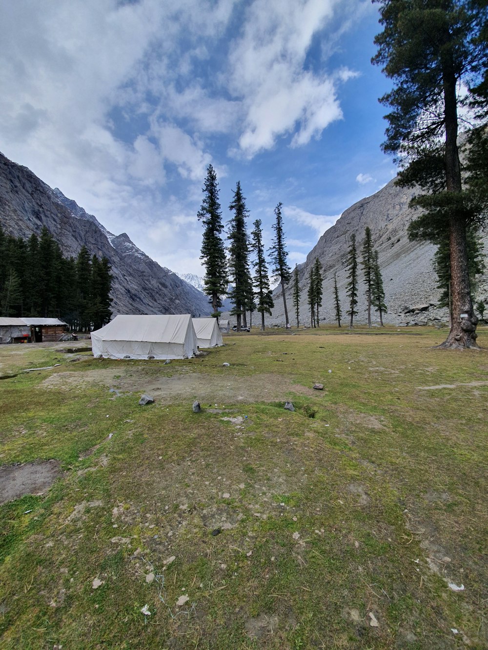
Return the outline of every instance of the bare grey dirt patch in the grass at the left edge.
<path id="1" fill-rule="evenodd" d="M 0 467 L 0 504 L 26 494 L 43 494 L 60 475 L 57 460 Z"/>

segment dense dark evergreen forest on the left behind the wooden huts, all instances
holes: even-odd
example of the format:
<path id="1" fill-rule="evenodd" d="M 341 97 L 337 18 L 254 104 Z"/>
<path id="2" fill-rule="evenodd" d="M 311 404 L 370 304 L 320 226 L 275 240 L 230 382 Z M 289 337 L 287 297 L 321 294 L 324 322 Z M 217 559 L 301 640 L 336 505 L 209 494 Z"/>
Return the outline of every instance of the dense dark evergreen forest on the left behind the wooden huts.
<path id="1" fill-rule="evenodd" d="M 61 318 L 71 331 L 97 330 L 111 318 L 111 266 L 90 257 L 63 257 L 46 227 L 28 240 L 0 226 L 0 316 Z"/>

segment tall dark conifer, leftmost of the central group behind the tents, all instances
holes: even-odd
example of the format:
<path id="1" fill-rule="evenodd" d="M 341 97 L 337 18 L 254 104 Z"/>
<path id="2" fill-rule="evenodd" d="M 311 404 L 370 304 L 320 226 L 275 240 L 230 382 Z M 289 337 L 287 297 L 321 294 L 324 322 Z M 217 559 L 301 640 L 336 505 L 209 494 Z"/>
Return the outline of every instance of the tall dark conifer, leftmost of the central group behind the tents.
<path id="1" fill-rule="evenodd" d="M 209 296 L 214 318 L 219 318 L 219 307 L 222 306 L 221 296 L 227 292 L 228 278 L 225 259 L 225 246 L 222 239 L 224 226 L 222 224 L 221 204 L 219 203 L 219 183 L 217 174 L 211 164 L 207 168 L 205 179 L 204 199 L 198 211 L 198 220 L 204 225 L 200 259 L 205 266 L 204 289 Z"/>

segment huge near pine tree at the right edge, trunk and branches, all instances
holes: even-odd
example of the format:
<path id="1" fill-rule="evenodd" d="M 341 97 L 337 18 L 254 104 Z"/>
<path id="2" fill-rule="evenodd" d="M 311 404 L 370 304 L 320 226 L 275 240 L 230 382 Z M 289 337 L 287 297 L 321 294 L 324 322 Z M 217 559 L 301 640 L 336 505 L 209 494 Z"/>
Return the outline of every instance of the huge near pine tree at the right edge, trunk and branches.
<path id="1" fill-rule="evenodd" d="M 453 318 L 441 347 L 476 347 L 466 231 L 483 216 L 486 191 L 478 191 L 476 171 L 463 186 L 457 138 L 459 107 L 470 99 L 478 103 L 481 122 L 471 135 L 478 142 L 486 138 L 488 3 L 375 1 L 383 32 L 375 38 L 373 63 L 394 82 L 394 90 L 380 100 L 391 109 L 383 149 L 396 154 L 403 167 L 398 184 L 426 192 L 411 201 L 423 211 L 409 228 L 411 237 L 435 242 L 446 233 L 450 242 Z M 476 146 L 467 151 L 468 170 L 472 151 Z M 486 188 L 486 177 L 481 180 Z"/>

